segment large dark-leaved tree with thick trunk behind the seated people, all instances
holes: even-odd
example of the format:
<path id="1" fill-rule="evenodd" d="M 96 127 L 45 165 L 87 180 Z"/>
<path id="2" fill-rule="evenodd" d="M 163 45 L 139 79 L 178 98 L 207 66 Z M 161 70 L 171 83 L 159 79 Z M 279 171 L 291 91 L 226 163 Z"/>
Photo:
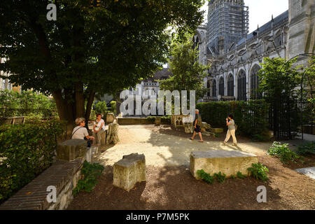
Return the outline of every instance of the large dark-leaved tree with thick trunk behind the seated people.
<path id="1" fill-rule="evenodd" d="M 48 3 L 57 20 L 48 21 Z M 165 62 L 171 34 L 202 22 L 203 0 L 1 0 L 0 70 L 10 82 L 52 94 L 59 117 L 89 118 L 95 92 L 148 78 Z"/>

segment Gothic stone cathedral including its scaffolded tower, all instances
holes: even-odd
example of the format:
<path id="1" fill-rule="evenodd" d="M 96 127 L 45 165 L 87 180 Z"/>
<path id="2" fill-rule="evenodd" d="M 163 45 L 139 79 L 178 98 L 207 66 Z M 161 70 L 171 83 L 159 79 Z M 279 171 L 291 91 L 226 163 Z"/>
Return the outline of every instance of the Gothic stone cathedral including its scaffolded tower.
<path id="1" fill-rule="evenodd" d="M 260 99 L 258 71 L 265 57 L 290 59 L 315 52 L 314 1 L 288 0 L 289 9 L 248 34 L 244 0 L 209 1 L 206 27 L 194 37 L 200 62 L 211 64 L 204 79 L 207 95 L 199 102 Z M 250 10 L 250 9 L 249 9 Z M 299 57 L 306 65 L 309 57 Z"/>

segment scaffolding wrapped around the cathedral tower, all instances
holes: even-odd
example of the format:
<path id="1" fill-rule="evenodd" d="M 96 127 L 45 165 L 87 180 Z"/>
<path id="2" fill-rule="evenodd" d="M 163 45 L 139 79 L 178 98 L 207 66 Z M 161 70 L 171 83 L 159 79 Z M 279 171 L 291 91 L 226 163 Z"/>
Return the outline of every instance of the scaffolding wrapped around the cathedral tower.
<path id="1" fill-rule="evenodd" d="M 224 55 L 233 43 L 246 38 L 248 29 L 244 0 L 209 1 L 207 46 L 215 55 Z"/>

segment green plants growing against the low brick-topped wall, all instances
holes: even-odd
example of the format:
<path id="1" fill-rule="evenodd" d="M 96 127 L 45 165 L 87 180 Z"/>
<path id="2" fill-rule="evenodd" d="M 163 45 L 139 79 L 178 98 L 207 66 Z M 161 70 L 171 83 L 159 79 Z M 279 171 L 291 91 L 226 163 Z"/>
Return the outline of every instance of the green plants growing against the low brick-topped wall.
<path id="1" fill-rule="evenodd" d="M 90 193 L 97 185 L 97 178 L 101 176 L 103 169 L 104 167 L 102 165 L 99 165 L 97 163 L 92 164 L 85 160 L 81 169 L 83 179 L 79 180 L 76 188 L 72 190 L 73 196 L 76 197 L 76 195 L 78 195 L 78 193 L 83 190 Z"/>

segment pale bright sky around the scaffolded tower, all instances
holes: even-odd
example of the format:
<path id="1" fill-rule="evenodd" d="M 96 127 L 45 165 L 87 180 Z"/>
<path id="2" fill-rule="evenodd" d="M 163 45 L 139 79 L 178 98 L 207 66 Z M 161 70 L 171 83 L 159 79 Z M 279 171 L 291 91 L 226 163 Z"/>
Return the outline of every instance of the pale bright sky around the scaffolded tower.
<path id="1" fill-rule="evenodd" d="M 265 23 L 269 22 L 274 15 L 280 15 L 288 10 L 288 0 L 244 0 L 245 6 L 249 7 L 249 33 L 257 29 L 257 25 L 262 27 Z M 202 7 L 206 10 L 205 20 L 208 14 L 208 1 Z"/>

